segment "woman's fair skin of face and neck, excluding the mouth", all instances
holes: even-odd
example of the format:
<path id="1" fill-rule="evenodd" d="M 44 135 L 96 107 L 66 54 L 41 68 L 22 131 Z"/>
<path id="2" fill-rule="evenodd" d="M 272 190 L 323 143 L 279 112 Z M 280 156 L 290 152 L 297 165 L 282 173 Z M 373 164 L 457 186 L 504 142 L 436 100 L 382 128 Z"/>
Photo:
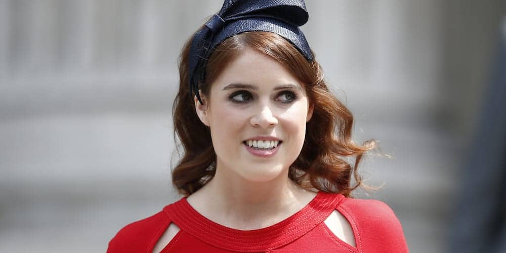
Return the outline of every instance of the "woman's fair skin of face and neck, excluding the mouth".
<path id="1" fill-rule="evenodd" d="M 204 105 L 195 99 L 217 154 L 215 177 L 187 199 L 202 215 L 227 227 L 258 229 L 313 199 L 315 193 L 288 178 L 312 116 L 303 86 L 273 58 L 245 49 L 211 84 Z M 274 136 L 282 144 L 273 157 L 254 156 L 243 141 L 256 136 Z"/>

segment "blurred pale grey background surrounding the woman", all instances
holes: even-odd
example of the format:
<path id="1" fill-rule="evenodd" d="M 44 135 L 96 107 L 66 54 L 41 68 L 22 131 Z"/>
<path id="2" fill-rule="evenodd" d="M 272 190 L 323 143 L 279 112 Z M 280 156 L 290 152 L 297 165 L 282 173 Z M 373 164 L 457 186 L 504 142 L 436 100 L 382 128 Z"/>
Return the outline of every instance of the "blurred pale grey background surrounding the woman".
<path id="1" fill-rule="evenodd" d="M 121 227 L 180 198 L 170 176 L 177 58 L 222 3 L 0 0 L 1 252 L 105 252 Z M 474 203 L 479 165 L 506 157 L 485 152 L 466 176 L 480 129 L 496 133 L 487 120 L 506 115 L 487 106 L 506 100 L 489 88 L 506 85 L 506 1 L 306 4 L 302 29 L 356 117 L 356 140 L 394 155 L 364 161 L 369 184 L 384 186 L 356 197 L 387 202 L 411 252 L 457 252 L 459 225 L 481 217 L 460 212 Z M 486 143 L 506 142 L 494 137 Z M 487 175 L 504 193 L 504 174 Z"/>

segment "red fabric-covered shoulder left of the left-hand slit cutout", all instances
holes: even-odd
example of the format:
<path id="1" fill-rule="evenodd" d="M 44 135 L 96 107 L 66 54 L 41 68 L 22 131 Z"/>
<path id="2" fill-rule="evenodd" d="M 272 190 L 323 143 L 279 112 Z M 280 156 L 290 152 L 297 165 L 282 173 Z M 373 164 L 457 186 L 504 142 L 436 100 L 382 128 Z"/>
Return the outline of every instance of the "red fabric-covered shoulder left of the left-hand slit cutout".
<path id="1" fill-rule="evenodd" d="M 124 226 L 109 242 L 108 253 L 146 251 L 168 226 L 170 220 L 160 211 Z"/>

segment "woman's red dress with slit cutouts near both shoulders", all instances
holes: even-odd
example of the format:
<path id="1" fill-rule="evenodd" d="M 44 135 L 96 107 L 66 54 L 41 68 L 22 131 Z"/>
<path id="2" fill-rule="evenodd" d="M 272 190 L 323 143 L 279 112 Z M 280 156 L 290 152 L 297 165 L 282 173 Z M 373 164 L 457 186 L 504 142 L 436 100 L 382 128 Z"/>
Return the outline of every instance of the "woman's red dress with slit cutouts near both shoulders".
<path id="1" fill-rule="evenodd" d="M 350 222 L 356 247 L 325 225 L 335 209 Z M 183 197 L 159 213 L 125 226 L 109 242 L 107 252 L 152 252 L 171 222 L 180 230 L 161 252 L 408 252 L 401 224 L 388 205 L 325 192 L 318 192 L 289 218 L 256 230 L 217 224 L 200 215 Z"/>

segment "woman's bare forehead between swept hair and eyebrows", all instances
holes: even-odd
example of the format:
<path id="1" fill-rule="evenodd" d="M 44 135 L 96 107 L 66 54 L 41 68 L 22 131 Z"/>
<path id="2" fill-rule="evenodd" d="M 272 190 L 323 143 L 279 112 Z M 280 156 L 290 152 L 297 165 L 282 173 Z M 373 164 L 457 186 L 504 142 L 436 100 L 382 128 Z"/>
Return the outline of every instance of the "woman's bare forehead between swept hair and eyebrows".
<path id="1" fill-rule="evenodd" d="M 281 63 L 259 51 L 244 49 L 213 83 L 220 90 L 230 83 L 246 83 L 260 88 L 276 85 L 296 85 L 302 83 Z"/>

